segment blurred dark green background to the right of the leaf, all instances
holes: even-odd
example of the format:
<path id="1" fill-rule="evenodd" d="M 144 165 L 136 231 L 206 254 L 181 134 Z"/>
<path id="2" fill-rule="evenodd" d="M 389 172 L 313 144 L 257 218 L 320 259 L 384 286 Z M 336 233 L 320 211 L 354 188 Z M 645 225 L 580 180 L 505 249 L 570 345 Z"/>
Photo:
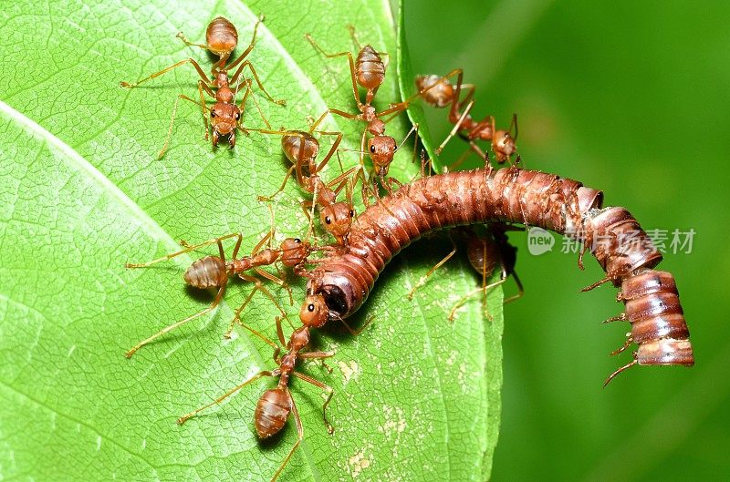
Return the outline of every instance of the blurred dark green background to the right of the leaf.
<path id="1" fill-rule="evenodd" d="M 730 477 L 730 4 L 724 2 L 406 2 L 416 73 L 463 67 L 474 117 L 519 116 L 527 168 L 606 192 L 646 229 L 694 229 L 668 253 L 696 365 L 639 367 L 607 354 L 629 326 L 615 290 L 575 256 L 527 252 L 527 293 L 505 310 L 503 420 L 493 480 L 728 480 Z M 429 109 L 440 140 L 445 112 Z M 453 157 L 464 145 L 454 141 Z M 450 154 L 449 154 L 450 153 Z M 669 243 L 668 243 L 669 244 Z M 556 252 L 557 251 L 557 252 Z M 507 288 L 509 292 L 510 288 Z"/>

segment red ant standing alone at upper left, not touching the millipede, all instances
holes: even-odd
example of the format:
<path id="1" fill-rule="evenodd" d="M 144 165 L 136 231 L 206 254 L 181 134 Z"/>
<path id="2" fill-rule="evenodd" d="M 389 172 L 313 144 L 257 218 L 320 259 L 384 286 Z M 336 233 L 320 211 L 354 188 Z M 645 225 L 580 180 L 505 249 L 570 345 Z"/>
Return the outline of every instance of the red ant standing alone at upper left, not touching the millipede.
<path id="1" fill-rule="evenodd" d="M 255 79 L 256 84 L 264 92 L 266 98 L 269 101 L 280 106 L 284 106 L 286 104 L 284 100 L 276 100 L 269 95 L 269 93 L 266 91 L 266 88 L 261 83 L 261 80 L 259 80 L 255 68 L 250 61 L 246 60 L 245 62 L 243 62 L 245 57 L 251 53 L 251 50 L 253 50 L 255 46 L 256 31 L 258 30 L 259 24 L 263 21 L 264 17 L 262 15 L 256 21 L 256 24 L 254 26 L 254 35 L 251 38 L 251 43 L 249 44 L 249 46 L 240 56 L 238 56 L 238 58 L 235 59 L 235 61 L 233 61 L 228 66 L 225 65 L 225 62 L 231 56 L 231 53 L 238 43 L 238 34 L 235 30 L 235 26 L 233 26 L 233 24 L 231 24 L 224 17 L 219 16 L 215 18 L 208 26 L 208 29 L 206 31 L 207 45 L 192 44 L 187 38 L 185 38 L 185 36 L 183 36 L 182 32 L 178 33 L 177 36 L 181 38 L 183 42 L 188 46 L 199 46 L 203 49 L 210 50 L 215 55 L 220 57 L 213 66 L 213 69 L 211 71 L 212 77 L 208 77 L 203 72 L 203 68 L 201 68 L 200 65 L 193 58 L 186 58 L 170 67 L 163 68 L 159 72 L 155 72 L 151 76 L 144 77 L 137 82 L 131 84 L 129 82 L 120 82 L 121 87 L 139 87 L 143 82 L 151 80 L 154 77 L 162 76 L 162 74 L 188 63 L 193 64 L 193 67 L 195 67 L 195 70 L 197 70 L 198 75 L 201 77 L 201 79 L 198 80 L 198 92 L 200 93 L 200 102 L 193 100 L 192 98 L 187 97 L 183 94 L 179 95 L 177 99 L 175 99 L 175 105 L 172 108 L 172 118 L 170 119 L 170 128 L 168 129 L 167 138 L 165 138 L 164 146 L 162 146 L 162 150 L 160 151 L 158 158 L 162 158 L 168 148 L 170 136 L 172 135 L 172 125 L 174 124 L 175 113 L 177 112 L 177 104 L 181 98 L 193 102 L 193 104 L 200 106 L 200 108 L 202 109 L 203 122 L 205 124 L 205 140 L 208 140 L 208 118 L 206 116 L 206 113 L 208 110 L 210 110 L 211 128 L 213 130 L 212 142 L 214 147 L 218 145 L 218 139 L 222 136 L 228 136 L 228 143 L 231 148 L 235 146 L 235 128 L 241 128 L 244 132 L 246 132 L 246 129 L 241 124 L 241 118 L 245 110 L 246 98 L 252 92 L 250 79 L 242 80 L 240 83 L 238 82 L 238 79 L 241 76 L 241 73 L 243 72 L 245 67 L 249 68 L 252 76 Z M 235 71 L 233 77 L 229 79 L 228 71 L 238 66 L 238 64 L 241 64 L 240 67 L 238 67 L 238 69 Z M 241 100 L 240 106 L 236 106 L 235 94 L 242 86 L 245 86 L 245 94 L 243 99 Z M 215 89 L 215 92 L 213 91 L 213 89 Z M 205 105 L 205 97 L 203 96 L 203 91 L 210 97 L 214 97 L 215 104 L 212 108 L 208 108 Z M 259 116 L 264 120 L 266 127 L 271 128 L 268 120 L 266 120 L 263 112 L 261 112 L 261 108 L 259 108 L 258 103 L 255 101 L 255 97 L 252 96 L 252 98 L 254 99 L 256 108 L 258 109 Z"/>

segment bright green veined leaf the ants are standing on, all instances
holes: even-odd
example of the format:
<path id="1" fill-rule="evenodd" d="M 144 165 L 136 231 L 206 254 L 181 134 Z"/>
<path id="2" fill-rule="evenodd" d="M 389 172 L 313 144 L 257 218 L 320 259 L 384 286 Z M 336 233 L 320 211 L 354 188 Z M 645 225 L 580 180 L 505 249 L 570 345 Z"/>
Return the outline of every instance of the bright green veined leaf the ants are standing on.
<path id="1" fill-rule="evenodd" d="M 149 87 L 125 90 L 119 82 L 186 56 L 206 68 L 211 58 L 183 46 L 176 32 L 200 41 L 208 20 L 225 15 L 245 45 L 263 13 L 251 60 L 287 107 L 260 95 L 259 104 L 273 126 L 306 128 L 307 117 L 327 106 L 354 106 L 345 59 L 318 55 L 304 34 L 330 51 L 351 49 L 346 26 L 356 23 L 363 43 L 395 52 L 391 14 L 364 1 L 300 2 L 296 10 L 286 2 L 74 8 L 7 5 L 0 25 L 3 38 L 16 39 L 3 46 L 0 63 L 0 473 L 23 480 L 268 480 L 297 438 L 289 423 L 271 442 L 256 439 L 254 407 L 271 379 L 175 424 L 251 374 L 274 368 L 271 349 L 257 338 L 239 331 L 223 340 L 232 308 L 251 286 L 232 282 L 213 316 L 127 360 L 130 346 L 212 297 L 184 287 L 191 257 L 147 270 L 123 264 L 175 251 L 181 239 L 235 231 L 245 235 L 242 252 L 250 252 L 269 225 L 256 195 L 274 192 L 287 167 L 279 139 L 239 133 L 235 149 L 212 149 L 200 110 L 183 102 L 171 148 L 158 160 L 174 99 L 196 96 L 196 75 L 186 66 Z M 389 73 L 377 105 L 398 97 Z M 251 104 L 245 122 L 262 125 Z M 334 118 L 327 127 L 359 148 L 361 124 Z M 404 118 L 388 126 L 398 139 L 407 129 Z M 354 152 L 342 157 L 358 162 Z M 339 172 L 330 164 L 326 177 Z M 418 170 L 404 152 L 391 173 L 405 181 Z M 277 239 L 306 231 L 297 206 L 303 197 L 291 181 L 277 197 Z M 334 371 L 301 369 L 335 389 L 328 413 L 336 432 L 329 436 L 322 423 L 321 391 L 293 381 L 305 440 L 281 480 L 488 477 L 499 414 L 502 294 L 490 294 L 493 320 L 485 321 L 474 297 L 449 323 L 452 305 L 479 282 L 456 260 L 408 301 L 412 285 L 451 249 L 445 238 L 428 244 L 404 251 L 382 274 L 352 321 L 361 326 L 374 315 L 360 336 L 330 327 L 315 338 L 316 349 L 337 352 L 329 362 Z M 297 320 L 303 284 L 293 283 L 293 306 L 275 288 Z M 257 293 L 245 322 L 274 338 L 275 315 Z"/>

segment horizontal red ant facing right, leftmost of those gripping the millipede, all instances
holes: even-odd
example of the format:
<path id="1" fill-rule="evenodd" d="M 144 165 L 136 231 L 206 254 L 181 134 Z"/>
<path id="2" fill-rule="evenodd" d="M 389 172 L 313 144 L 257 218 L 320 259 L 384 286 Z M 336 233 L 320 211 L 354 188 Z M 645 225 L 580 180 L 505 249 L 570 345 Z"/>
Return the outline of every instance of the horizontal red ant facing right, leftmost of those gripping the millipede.
<path id="1" fill-rule="evenodd" d="M 172 254 L 168 254 L 166 256 L 163 256 L 162 258 L 158 258 L 156 260 L 153 260 L 151 262 L 143 262 L 143 263 L 126 263 L 126 268 L 146 268 L 148 266 L 151 266 L 152 264 L 156 264 L 158 262 L 163 262 L 170 260 L 172 258 L 175 258 L 176 256 L 180 256 L 181 254 L 184 254 L 186 252 L 190 252 L 199 248 L 203 248 L 204 246 L 208 246 L 210 244 L 217 244 L 218 245 L 218 256 L 205 256 L 204 258 L 201 258 L 200 260 L 196 260 L 191 264 L 191 266 L 185 271 L 185 274 L 183 276 L 185 282 L 190 284 L 191 286 L 199 289 L 211 289 L 211 288 L 217 288 L 218 292 L 215 294 L 215 298 L 213 300 L 213 303 L 211 303 L 210 306 L 205 308 L 203 311 L 195 313 L 191 316 L 188 316 L 187 318 L 183 319 L 182 321 L 172 323 L 171 325 L 166 326 L 165 328 L 162 328 L 161 331 L 158 333 L 155 333 L 151 335 L 149 338 L 141 341 L 139 344 L 134 345 L 133 348 L 130 349 L 130 351 L 127 352 L 126 356 L 127 358 L 130 358 L 131 355 L 133 355 L 137 350 L 139 350 L 142 346 L 149 344 L 151 341 L 155 340 L 156 338 L 162 336 L 164 333 L 171 332 L 178 326 L 187 323 L 191 320 L 194 320 L 195 318 L 199 318 L 200 316 L 203 316 L 205 313 L 210 313 L 214 310 L 214 308 L 218 305 L 218 303 L 221 302 L 223 299 L 223 295 L 225 292 L 225 287 L 228 284 L 228 278 L 230 276 L 233 276 L 234 274 L 237 275 L 239 278 L 244 280 L 245 282 L 253 282 L 255 284 L 254 290 L 248 294 L 246 297 L 244 303 L 241 304 L 241 306 L 235 311 L 235 318 L 230 323 L 228 330 L 225 332 L 225 337 L 230 337 L 231 332 L 233 331 L 235 321 L 238 319 L 239 314 L 244 310 L 246 304 L 251 300 L 251 298 L 254 296 L 254 293 L 256 291 L 261 291 L 266 294 L 266 296 L 276 305 L 276 308 L 278 308 L 279 312 L 282 313 L 284 317 L 287 316 L 287 313 L 284 312 L 284 310 L 281 308 L 279 303 L 276 302 L 276 299 L 274 298 L 274 295 L 271 294 L 266 289 L 266 286 L 264 286 L 264 283 L 256 278 L 253 275 L 246 274 L 245 272 L 253 270 L 256 274 L 259 276 L 266 278 L 269 281 L 276 282 L 279 286 L 286 289 L 289 293 L 289 299 L 292 299 L 292 293 L 291 289 L 287 286 L 287 283 L 284 282 L 281 278 L 275 276 L 274 274 L 271 274 L 269 272 L 265 272 L 260 267 L 261 266 L 268 266 L 271 264 L 274 264 L 276 262 L 281 262 L 284 266 L 287 266 L 289 268 L 293 268 L 295 272 L 297 272 L 301 266 L 304 264 L 308 264 L 309 261 L 307 259 L 308 255 L 312 251 L 318 251 L 320 249 L 324 248 L 318 248 L 312 246 L 308 241 L 302 241 L 298 238 L 287 238 L 286 240 L 281 242 L 281 245 L 279 246 L 279 249 L 272 249 L 272 248 L 266 248 L 262 250 L 264 245 L 268 243 L 270 245 L 271 240 L 274 236 L 274 230 L 272 227 L 272 230 L 269 231 L 264 238 L 259 241 L 252 251 L 250 256 L 244 256 L 241 258 L 237 258 L 238 256 L 238 250 L 241 247 L 241 241 L 243 241 L 243 235 L 241 233 L 232 233 L 232 234 L 226 234 L 225 236 L 222 236 L 220 238 L 214 238 L 213 240 L 204 241 L 200 244 L 190 245 L 183 241 L 183 246 L 185 246 L 184 250 L 173 252 Z M 223 243 L 221 241 L 230 239 L 230 238 L 236 238 L 235 241 L 235 247 L 233 251 L 233 255 L 231 257 L 230 261 L 227 261 L 225 259 L 225 251 L 223 248 Z M 314 261 L 316 262 L 316 261 Z M 288 318 L 287 318 L 288 320 Z"/>

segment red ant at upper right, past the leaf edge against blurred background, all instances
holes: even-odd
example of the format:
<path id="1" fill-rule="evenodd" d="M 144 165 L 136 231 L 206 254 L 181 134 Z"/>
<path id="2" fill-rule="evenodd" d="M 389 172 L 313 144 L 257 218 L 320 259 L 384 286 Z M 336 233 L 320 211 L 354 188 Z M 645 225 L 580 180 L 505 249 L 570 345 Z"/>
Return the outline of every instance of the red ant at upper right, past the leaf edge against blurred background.
<path id="1" fill-rule="evenodd" d="M 454 77 L 454 75 L 457 76 L 455 89 L 447 80 L 449 77 Z M 463 77 L 464 72 L 460 68 L 452 70 L 444 77 L 434 75 L 416 77 L 416 87 L 421 89 L 422 97 L 427 103 L 435 108 L 444 108 L 451 104 L 449 122 L 454 124 L 454 128 L 436 149 L 436 154 L 441 153 L 446 143 L 457 132 L 462 131 L 464 139 L 469 142 L 471 149 L 481 159 L 486 158 L 485 152 L 476 145 L 474 139 L 490 140 L 497 163 L 504 164 L 516 152 L 517 116 L 516 114 L 512 116 L 512 123 L 507 130 L 496 130 L 495 118 L 492 116 L 487 116 L 484 120 L 475 121 L 469 114 L 474 106 L 472 97 L 474 97 L 475 88 L 471 84 L 463 84 Z M 466 97 L 459 100 L 463 87 L 467 88 Z M 464 108 L 464 105 L 466 108 Z M 464 111 L 460 112 L 462 108 L 464 108 Z M 515 129 L 514 136 L 512 135 L 513 128 Z M 457 161 L 457 164 L 459 162 Z"/>

